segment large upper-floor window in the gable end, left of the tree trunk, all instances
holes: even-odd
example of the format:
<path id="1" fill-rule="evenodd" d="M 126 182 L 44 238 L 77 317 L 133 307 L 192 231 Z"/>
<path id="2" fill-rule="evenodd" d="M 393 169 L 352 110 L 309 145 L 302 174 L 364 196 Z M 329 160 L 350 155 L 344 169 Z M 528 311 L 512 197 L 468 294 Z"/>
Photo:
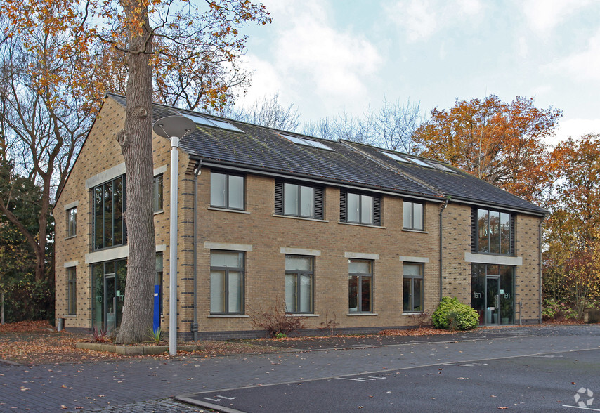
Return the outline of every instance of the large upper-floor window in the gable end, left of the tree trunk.
<path id="1" fill-rule="evenodd" d="M 93 249 L 126 244 L 125 176 L 93 188 Z"/>

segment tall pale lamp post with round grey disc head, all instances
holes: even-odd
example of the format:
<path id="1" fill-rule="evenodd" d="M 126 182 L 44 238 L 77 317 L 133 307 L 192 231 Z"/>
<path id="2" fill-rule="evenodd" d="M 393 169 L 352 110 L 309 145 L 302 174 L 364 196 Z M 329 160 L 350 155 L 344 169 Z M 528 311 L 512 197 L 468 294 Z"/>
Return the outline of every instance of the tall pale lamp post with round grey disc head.
<path id="1" fill-rule="evenodd" d="M 177 190 L 179 140 L 196 129 L 195 122 L 185 116 L 167 116 L 158 119 L 152 131 L 171 140 L 171 210 L 169 242 L 169 354 L 177 354 Z"/>

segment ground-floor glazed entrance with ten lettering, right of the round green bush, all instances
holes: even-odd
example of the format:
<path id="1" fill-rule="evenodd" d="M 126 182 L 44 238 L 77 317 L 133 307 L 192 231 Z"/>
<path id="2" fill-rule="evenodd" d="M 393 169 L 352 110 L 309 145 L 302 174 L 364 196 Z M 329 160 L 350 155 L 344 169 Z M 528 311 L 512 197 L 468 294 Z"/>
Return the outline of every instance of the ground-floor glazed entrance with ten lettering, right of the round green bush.
<path id="1" fill-rule="evenodd" d="M 471 264 L 471 307 L 480 325 L 514 324 L 514 267 Z"/>

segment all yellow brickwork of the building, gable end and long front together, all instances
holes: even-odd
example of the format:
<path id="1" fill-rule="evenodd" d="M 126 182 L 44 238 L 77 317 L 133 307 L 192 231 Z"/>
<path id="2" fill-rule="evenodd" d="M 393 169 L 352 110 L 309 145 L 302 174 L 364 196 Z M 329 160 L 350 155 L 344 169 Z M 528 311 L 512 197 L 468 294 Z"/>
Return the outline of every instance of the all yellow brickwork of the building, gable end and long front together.
<path id="1" fill-rule="evenodd" d="M 124 162 L 115 133 L 124 122 L 124 108 L 107 98 L 100 116 L 81 150 L 65 189 L 54 209 L 56 217 L 56 317 L 65 317 L 66 327 L 91 327 L 91 267 L 86 254 L 91 250 L 91 192 L 86 179 Z M 155 214 L 157 249 L 164 251 L 164 318 L 169 321 L 169 197 L 170 142 L 154 137 L 155 168 L 164 171 L 164 211 Z M 179 151 L 178 188 L 178 331 L 189 334 L 193 321 L 193 197 L 194 176 L 190 159 Z M 234 332 L 252 329 L 249 317 L 211 317 L 209 310 L 210 250 L 205 242 L 247 244 L 245 310 L 256 313 L 280 302 L 285 296 L 285 254 L 281 248 L 320 251 L 315 257 L 314 310 L 306 327 L 317 328 L 335 315 L 337 327 L 398 327 L 415 323 L 403 315 L 403 263 L 400 257 L 424 258 L 424 308 L 433 311 L 440 295 L 439 206 L 426 203 L 423 232 L 403 230 L 403 199 L 382 197 L 382 227 L 339 223 L 339 189 L 325 189 L 325 219 L 311 221 L 274 216 L 275 179 L 247 175 L 246 211 L 210 208 L 210 168 L 202 167 L 197 177 L 197 321 L 200 332 Z M 66 239 L 65 205 L 77 206 L 77 237 Z M 539 219 L 519 215 L 516 219 L 516 255 L 523 265 L 516 269 L 516 301 L 523 301 L 524 319 L 537 318 L 539 291 Z M 469 304 L 471 264 L 471 207 L 450 202 L 443 211 L 443 295 L 456 296 Z M 348 258 L 345 253 L 378 254 L 374 261 L 373 312 L 348 315 Z M 77 315 L 67 315 L 67 282 L 64 263 L 77 261 Z"/>

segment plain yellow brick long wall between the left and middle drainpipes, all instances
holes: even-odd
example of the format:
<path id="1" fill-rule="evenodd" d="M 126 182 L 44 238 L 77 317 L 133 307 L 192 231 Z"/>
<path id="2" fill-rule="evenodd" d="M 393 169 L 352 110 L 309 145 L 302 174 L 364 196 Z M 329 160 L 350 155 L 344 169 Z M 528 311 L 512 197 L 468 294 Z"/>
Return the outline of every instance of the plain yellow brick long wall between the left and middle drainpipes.
<path id="1" fill-rule="evenodd" d="M 285 254 L 281 248 L 320 251 L 315 258 L 315 314 L 308 327 L 318 327 L 336 316 L 339 328 L 385 327 L 410 323 L 402 315 L 403 263 L 400 256 L 428 258 L 424 264 L 425 308 L 435 308 L 439 296 L 438 210 L 427 204 L 425 231 L 403 230 L 402 199 L 382 199 L 382 226 L 339 223 L 339 190 L 325 190 L 325 222 L 274 216 L 275 180 L 247 176 L 246 212 L 210 209 L 210 171 L 202 168 L 198 177 L 199 248 L 198 317 L 201 331 L 247 330 L 247 318 L 213 318 L 210 314 L 209 258 L 204 242 L 249 244 L 246 254 L 247 313 L 266 310 L 283 301 L 285 295 Z M 373 304 L 377 315 L 348 315 L 348 258 L 346 252 L 379 254 L 374 261 Z"/>

